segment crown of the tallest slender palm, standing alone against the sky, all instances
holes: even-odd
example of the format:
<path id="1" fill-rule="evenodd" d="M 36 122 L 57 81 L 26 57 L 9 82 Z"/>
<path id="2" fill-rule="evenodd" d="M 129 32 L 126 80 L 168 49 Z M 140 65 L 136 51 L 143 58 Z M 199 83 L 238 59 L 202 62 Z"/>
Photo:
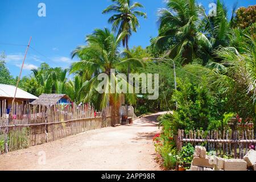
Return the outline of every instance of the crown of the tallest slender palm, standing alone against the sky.
<path id="1" fill-rule="evenodd" d="M 129 33 L 122 39 L 123 47 L 129 49 L 131 32 L 137 32 L 137 27 L 139 27 L 137 16 L 147 18 L 147 15 L 137 10 L 138 7 L 143 7 L 141 3 L 135 2 L 132 4 L 130 0 L 112 0 L 112 2 L 115 2 L 115 4 L 107 7 L 102 13 L 116 13 L 109 18 L 109 23 L 113 24 L 113 31 L 118 31 L 117 36 L 122 32 Z"/>

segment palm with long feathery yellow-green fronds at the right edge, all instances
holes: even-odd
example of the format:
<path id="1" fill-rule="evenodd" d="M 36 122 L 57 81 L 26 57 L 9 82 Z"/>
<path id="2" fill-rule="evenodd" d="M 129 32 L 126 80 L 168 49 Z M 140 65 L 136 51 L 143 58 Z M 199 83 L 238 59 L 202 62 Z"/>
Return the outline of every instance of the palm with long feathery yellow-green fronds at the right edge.
<path id="1" fill-rule="evenodd" d="M 234 47 L 216 49 L 214 54 L 220 63 L 186 65 L 185 69 L 206 77 L 209 86 L 228 98 L 228 108 L 243 118 L 256 119 L 256 40 L 244 34 L 239 46 L 241 52 Z"/>

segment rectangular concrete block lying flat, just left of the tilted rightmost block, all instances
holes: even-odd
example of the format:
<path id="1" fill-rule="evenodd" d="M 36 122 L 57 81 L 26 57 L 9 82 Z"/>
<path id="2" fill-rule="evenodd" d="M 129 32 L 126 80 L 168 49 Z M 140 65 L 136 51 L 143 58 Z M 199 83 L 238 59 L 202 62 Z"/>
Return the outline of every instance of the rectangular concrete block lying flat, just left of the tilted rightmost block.
<path id="1" fill-rule="evenodd" d="M 247 163 L 242 159 L 225 159 L 224 171 L 246 171 Z"/>

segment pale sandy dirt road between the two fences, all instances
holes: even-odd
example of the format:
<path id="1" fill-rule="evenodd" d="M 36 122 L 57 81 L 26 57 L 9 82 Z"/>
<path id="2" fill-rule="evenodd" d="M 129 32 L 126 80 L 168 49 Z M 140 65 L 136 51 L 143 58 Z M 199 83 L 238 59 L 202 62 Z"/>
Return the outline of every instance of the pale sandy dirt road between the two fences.
<path id="1" fill-rule="evenodd" d="M 152 143 L 152 138 L 159 132 L 156 118 L 160 114 L 164 113 L 136 119 L 132 126 L 88 131 L 0 155 L 0 171 L 160 170 L 154 160 Z"/>

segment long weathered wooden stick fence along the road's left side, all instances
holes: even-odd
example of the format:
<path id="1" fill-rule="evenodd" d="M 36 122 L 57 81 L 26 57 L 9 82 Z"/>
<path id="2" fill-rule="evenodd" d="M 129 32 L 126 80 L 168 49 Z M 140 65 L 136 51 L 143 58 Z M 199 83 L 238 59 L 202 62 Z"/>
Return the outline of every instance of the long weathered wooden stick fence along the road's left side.
<path id="1" fill-rule="evenodd" d="M 2 103 L 0 154 L 112 125 L 110 107 L 97 112 L 89 104 L 79 106 L 15 104 L 10 121 L 5 108 L 5 103 Z"/>

